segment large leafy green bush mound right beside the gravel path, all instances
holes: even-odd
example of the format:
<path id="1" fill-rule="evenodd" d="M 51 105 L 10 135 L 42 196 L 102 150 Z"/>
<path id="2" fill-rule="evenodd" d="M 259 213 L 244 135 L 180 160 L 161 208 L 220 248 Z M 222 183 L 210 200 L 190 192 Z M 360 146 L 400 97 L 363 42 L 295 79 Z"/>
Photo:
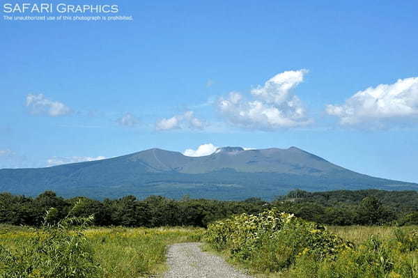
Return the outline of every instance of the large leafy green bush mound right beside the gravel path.
<path id="1" fill-rule="evenodd" d="M 233 258 L 251 268 L 270 272 L 288 268 L 298 256 L 309 254 L 323 260 L 353 248 L 324 226 L 277 209 L 214 222 L 208 225 L 206 241 L 218 251 L 229 249 Z"/>

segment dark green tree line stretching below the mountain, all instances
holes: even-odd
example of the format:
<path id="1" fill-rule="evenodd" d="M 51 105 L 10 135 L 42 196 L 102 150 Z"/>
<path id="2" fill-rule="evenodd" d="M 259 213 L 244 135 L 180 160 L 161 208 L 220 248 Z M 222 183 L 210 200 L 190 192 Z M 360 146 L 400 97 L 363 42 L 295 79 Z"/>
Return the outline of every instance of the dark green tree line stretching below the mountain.
<path id="1" fill-rule="evenodd" d="M 77 216 L 94 215 L 95 226 L 201 226 L 231 215 L 260 213 L 272 207 L 297 217 L 322 224 L 376 225 L 418 224 L 417 192 L 388 192 L 383 190 L 305 192 L 293 190 L 272 202 L 258 198 L 244 201 L 190 199 L 174 200 L 163 196 L 149 196 L 139 200 L 135 196 L 102 201 L 80 196 L 64 199 L 52 191 L 35 198 L 0 194 L 0 223 L 39 226 L 49 208 L 56 208 L 55 221 L 65 217 L 80 199 L 83 206 Z"/>

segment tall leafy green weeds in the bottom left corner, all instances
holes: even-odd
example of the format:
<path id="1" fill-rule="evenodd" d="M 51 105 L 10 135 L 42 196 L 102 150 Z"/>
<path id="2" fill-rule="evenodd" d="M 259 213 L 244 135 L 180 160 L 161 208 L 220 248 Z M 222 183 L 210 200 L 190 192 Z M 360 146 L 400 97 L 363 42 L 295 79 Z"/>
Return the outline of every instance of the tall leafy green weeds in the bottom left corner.
<path id="1" fill-rule="evenodd" d="M 82 206 L 77 202 L 63 219 L 57 210 L 47 210 L 41 229 L 33 229 L 21 245 L 0 245 L 0 277 L 8 278 L 99 278 L 102 268 L 95 263 L 93 251 L 82 230 L 93 221 L 75 217 Z M 70 231 L 70 226 L 73 230 Z M 22 245 L 23 243 L 23 245 Z"/>

